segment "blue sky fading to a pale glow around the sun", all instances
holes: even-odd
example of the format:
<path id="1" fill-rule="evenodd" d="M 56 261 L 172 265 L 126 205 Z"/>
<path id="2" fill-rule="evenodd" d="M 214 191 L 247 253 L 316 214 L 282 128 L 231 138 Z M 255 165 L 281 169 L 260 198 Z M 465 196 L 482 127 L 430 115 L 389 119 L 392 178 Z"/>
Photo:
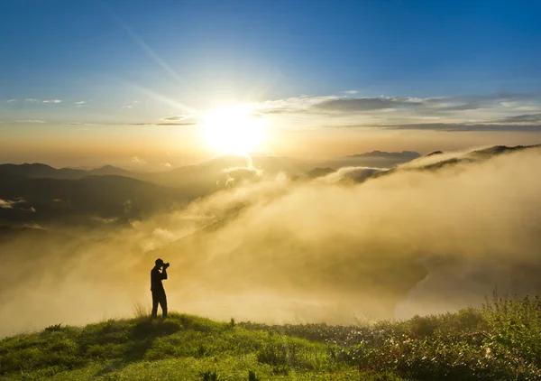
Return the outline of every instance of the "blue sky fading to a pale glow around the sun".
<path id="1" fill-rule="evenodd" d="M 539 14 L 538 1 L 4 0 L 0 134 L 77 140 L 78 124 L 151 124 L 224 104 L 265 110 L 290 99 L 298 106 L 303 97 L 308 106 L 326 97 L 383 96 L 393 105 L 400 98 L 447 98 L 438 107 L 457 113 L 435 116 L 402 103 L 408 110 L 362 106 L 356 111 L 365 114 L 353 120 L 346 107 L 350 119 L 341 116 L 342 125 L 436 117 L 493 125 L 541 113 Z M 466 104 L 476 111 L 461 114 Z M 388 109 L 399 117 L 382 120 Z M 275 117 L 286 114 L 273 110 Z M 292 129 L 329 125 L 328 115 L 312 117 L 275 122 Z"/>

